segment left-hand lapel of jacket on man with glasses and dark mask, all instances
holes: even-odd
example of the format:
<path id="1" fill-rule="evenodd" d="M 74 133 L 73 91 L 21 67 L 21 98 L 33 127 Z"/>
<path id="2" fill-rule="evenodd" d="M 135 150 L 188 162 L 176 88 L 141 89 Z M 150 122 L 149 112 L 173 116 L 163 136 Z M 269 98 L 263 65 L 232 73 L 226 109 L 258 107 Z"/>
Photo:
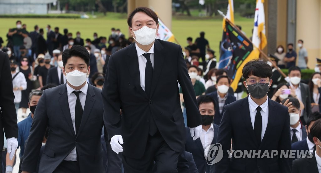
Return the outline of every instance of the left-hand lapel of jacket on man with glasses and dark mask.
<path id="1" fill-rule="evenodd" d="M 242 113 L 241 116 L 243 116 L 245 126 L 248 130 L 248 134 L 252 138 L 252 142 L 255 143 L 256 146 L 258 147 L 258 144 L 255 139 L 255 133 L 253 130 L 252 122 L 251 122 L 250 108 L 248 105 L 248 97 L 249 96 L 247 96 L 246 98 L 243 99 L 242 102 L 240 102 L 239 112 Z"/>

